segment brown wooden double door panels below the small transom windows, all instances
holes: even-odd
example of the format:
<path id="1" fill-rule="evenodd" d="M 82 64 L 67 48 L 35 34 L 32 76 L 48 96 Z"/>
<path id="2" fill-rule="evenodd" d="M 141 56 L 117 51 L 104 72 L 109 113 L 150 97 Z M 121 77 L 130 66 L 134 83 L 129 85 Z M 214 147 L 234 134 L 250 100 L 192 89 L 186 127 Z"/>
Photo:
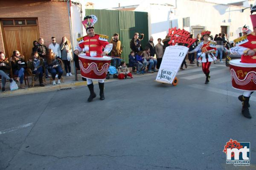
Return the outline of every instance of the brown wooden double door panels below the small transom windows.
<path id="1" fill-rule="evenodd" d="M 14 50 L 20 51 L 26 61 L 30 58 L 33 41 L 38 40 L 38 26 L 3 27 L 6 56 L 11 57 Z"/>

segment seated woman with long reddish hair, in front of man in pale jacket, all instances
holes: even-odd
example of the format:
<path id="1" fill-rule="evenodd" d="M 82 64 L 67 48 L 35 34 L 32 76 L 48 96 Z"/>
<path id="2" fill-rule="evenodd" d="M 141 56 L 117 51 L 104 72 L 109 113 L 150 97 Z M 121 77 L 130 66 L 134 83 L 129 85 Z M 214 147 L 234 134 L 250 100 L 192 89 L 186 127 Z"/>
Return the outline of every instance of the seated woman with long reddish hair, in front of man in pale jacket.
<path id="1" fill-rule="evenodd" d="M 58 72 L 58 84 L 61 84 L 61 76 L 63 74 L 63 70 L 61 65 L 59 64 L 55 54 L 51 49 L 47 51 L 47 69 L 52 74 L 52 85 L 56 85 L 55 76 Z"/>

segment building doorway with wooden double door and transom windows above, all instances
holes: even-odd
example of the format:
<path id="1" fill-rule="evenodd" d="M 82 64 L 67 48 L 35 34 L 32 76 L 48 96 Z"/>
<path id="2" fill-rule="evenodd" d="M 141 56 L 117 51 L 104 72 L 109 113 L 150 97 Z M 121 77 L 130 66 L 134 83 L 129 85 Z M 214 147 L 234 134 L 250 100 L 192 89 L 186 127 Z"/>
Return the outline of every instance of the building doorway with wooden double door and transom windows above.
<path id="1" fill-rule="evenodd" d="M 38 20 L 36 18 L 2 19 L 1 26 L 6 56 L 11 57 L 12 52 L 18 50 L 28 61 L 32 53 L 33 41 L 39 38 Z"/>

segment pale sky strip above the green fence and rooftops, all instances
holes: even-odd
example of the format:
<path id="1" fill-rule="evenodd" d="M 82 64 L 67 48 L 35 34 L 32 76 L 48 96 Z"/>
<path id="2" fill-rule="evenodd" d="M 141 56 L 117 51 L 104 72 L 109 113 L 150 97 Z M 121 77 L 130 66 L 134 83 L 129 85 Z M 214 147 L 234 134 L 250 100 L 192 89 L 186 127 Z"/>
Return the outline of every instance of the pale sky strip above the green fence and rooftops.
<path id="1" fill-rule="evenodd" d="M 120 3 L 120 6 L 139 5 L 144 0 L 86 0 L 86 1 L 94 3 L 95 9 L 105 9 L 105 8 L 118 7 L 118 3 Z M 227 4 L 227 3 L 234 3 L 234 2 L 239 2 L 243 0 L 207 0 L 207 1 Z"/>

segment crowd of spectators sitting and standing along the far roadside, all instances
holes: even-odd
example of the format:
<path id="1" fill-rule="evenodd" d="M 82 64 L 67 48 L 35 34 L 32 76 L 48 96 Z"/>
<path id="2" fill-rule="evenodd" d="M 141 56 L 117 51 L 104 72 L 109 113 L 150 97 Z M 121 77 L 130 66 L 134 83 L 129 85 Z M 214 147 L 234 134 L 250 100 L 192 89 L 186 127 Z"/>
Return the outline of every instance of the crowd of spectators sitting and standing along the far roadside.
<path id="1" fill-rule="evenodd" d="M 191 35 L 192 36 L 192 35 Z M 110 43 L 113 44 L 111 51 L 111 65 L 116 68 L 116 74 L 113 77 L 119 79 L 132 78 L 132 72 L 136 74 L 154 73 L 160 68 L 164 51 L 170 38 L 168 35 L 165 39 L 158 38 L 157 44 L 154 45 L 154 38 L 151 36 L 145 45 L 142 46 L 141 41 L 144 38 L 144 34 L 134 33 L 134 37 L 130 41 L 131 52 L 128 56 L 128 66 L 122 61 L 122 42 L 119 40 L 119 34 L 113 34 Z M 215 37 L 210 36 L 211 40 L 216 41 L 216 55 L 220 62 L 222 61 L 225 50 L 230 48 L 230 43 L 226 34 L 216 34 Z M 3 52 L 0 52 L 0 76 L 2 81 L 2 91 L 5 90 L 6 80 L 10 83 L 14 81 L 20 83 L 20 88 L 25 88 L 23 85 L 23 79 L 26 74 L 26 69 L 30 69 L 32 74 L 38 76 L 39 85 L 44 86 L 43 77 L 51 78 L 52 85 L 56 85 L 55 79 L 58 78 L 57 84 L 61 83 L 61 76 L 64 71 L 61 67 L 61 62 L 64 65 L 66 76 L 72 76 L 69 55 L 72 53 L 72 47 L 67 37 L 62 37 L 61 43 L 56 42 L 56 38 L 52 37 L 52 43 L 48 48 L 44 45 L 44 39 L 39 38 L 38 41 L 33 42 L 32 55 L 29 61 L 25 61 L 25 58 L 19 51 L 14 50 L 13 55 L 9 59 Z M 196 36 L 196 42 L 192 44 L 189 51 L 195 49 L 195 47 L 201 42 L 202 37 L 200 34 Z M 144 43 L 143 43 L 144 44 Z M 198 51 L 200 52 L 200 51 Z M 75 60 L 77 60 L 75 56 Z M 194 64 L 194 60 L 198 60 L 197 54 L 188 55 L 190 64 Z M 180 70 L 183 70 L 183 65 L 187 67 L 184 59 Z M 199 63 L 197 62 L 199 66 Z M 77 66 L 77 65 L 76 65 Z M 79 67 L 77 67 L 79 69 Z M 129 69 L 132 68 L 132 69 Z M 12 78 L 11 78 L 12 77 Z"/>

